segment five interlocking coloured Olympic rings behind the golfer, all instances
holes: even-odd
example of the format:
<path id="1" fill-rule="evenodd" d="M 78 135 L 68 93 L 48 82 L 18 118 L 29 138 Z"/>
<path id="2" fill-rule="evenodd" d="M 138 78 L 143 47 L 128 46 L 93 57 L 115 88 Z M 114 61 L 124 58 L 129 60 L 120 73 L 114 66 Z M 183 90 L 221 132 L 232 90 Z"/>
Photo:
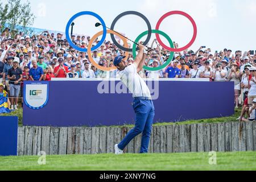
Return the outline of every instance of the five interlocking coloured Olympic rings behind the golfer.
<path id="1" fill-rule="evenodd" d="M 156 36 L 156 40 L 158 40 L 160 46 L 162 46 L 163 48 L 167 49 L 168 51 L 171 52 L 171 55 L 169 57 L 169 59 L 166 61 L 165 64 L 157 67 L 157 68 L 151 68 L 151 67 L 146 67 L 144 66 L 143 69 L 146 69 L 148 71 L 159 71 L 161 69 L 164 69 L 168 66 L 168 64 L 171 62 L 171 60 L 173 59 L 174 57 L 174 52 L 180 52 L 180 51 L 184 51 L 185 49 L 189 48 L 192 46 L 192 44 L 195 42 L 196 40 L 196 36 L 197 36 L 197 26 L 196 26 L 196 23 L 195 21 L 193 20 L 193 18 L 188 15 L 187 13 L 183 12 L 183 11 L 170 11 L 166 14 L 164 14 L 159 20 L 158 20 L 158 23 L 156 24 L 156 27 L 155 27 L 155 30 L 152 30 L 151 28 L 151 24 L 150 22 L 148 21 L 148 19 L 146 18 L 146 16 L 144 16 L 143 14 L 137 12 L 137 11 L 125 11 L 121 14 L 119 14 L 114 20 L 113 20 L 113 23 L 111 25 L 111 29 L 114 30 L 114 26 L 115 24 L 117 23 L 117 21 L 122 18 L 123 16 L 125 15 L 137 15 L 139 17 L 141 17 L 147 24 L 147 31 L 143 32 L 141 35 L 138 36 L 138 38 L 135 40 L 136 43 L 139 42 L 139 40 L 147 35 L 147 39 L 146 41 L 143 43 L 144 46 L 147 45 L 147 43 L 150 41 L 150 38 L 151 38 L 151 34 L 154 33 L 155 36 Z M 193 37 L 191 39 L 191 41 L 184 47 L 181 47 L 181 48 L 174 48 L 174 44 L 172 43 L 172 40 L 171 38 L 165 34 L 164 32 L 160 31 L 159 30 L 159 27 L 160 27 L 160 24 L 163 22 L 163 20 L 165 18 L 167 18 L 168 16 L 171 16 L 171 15 L 175 15 L 175 14 L 179 14 L 179 15 L 183 15 L 185 16 L 186 18 L 189 19 L 189 21 L 192 23 L 192 26 L 193 26 Z M 103 31 L 100 31 L 98 32 L 96 35 L 93 36 L 93 38 L 90 40 L 89 44 L 88 44 L 88 49 L 86 48 L 80 48 L 80 47 L 77 47 L 71 40 L 71 38 L 69 37 L 69 27 L 71 26 L 71 23 L 73 22 L 73 20 L 75 20 L 77 17 L 79 16 L 82 16 L 82 15 L 91 15 L 91 16 L 94 16 L 95 18 L 97 18 L 98 20 L 100 20 L 101 24 L 102 24 L 102 27 L 103 27 Z M 133 52 L 133 56 L 135 57 L 136 56 L 136 51 L 138 51 L 138 48 L 136 48 L 136 44 L 133 45 L 133 48 L 127 48 L 127 41 L 125 39 L 122 39 L 123 40 L 123 43 L 124 43 L 124 46 L 121 46 L 117 40 L 115 40 L 115 37 L 114 37 L 114 34 L 115 32 L 114 31 L 107 31 L 106 30 L 106 25 L 105 25 L 105 22 L 104 20 L 101 18 L 100 15 L 96 14 L 96 13 L 93 13 L 92 11 L 82 11 L 80 13 L 77 13 L 75 15 L 73 15 L 71 17 L 71 19 L 69 19 L 68 23 L 67 23 L 67 26 L 66 26 L 66 29 L 65 29 L 65 34 L 66 34 L 66 39 L 68 40 L 69 42 L 69 45 L 75 49 L 77 49 L 78 51 L 80 52 L 88 52 L 88 56 L 89 56 L 89 60 L 90 62 L 98 69 L 102 70 L 102 71 L 114 71 L 115 69 L 117 69 L 116 67 L 111 67 L 111 68 L 105 68 L 105 67 L 101 67 L 100 65 L 98 65 L 93 59 L 92 59 L 92 56 L 91 56 L 91 51 L 94 51 L 96 50 L 97 48 L 99 48 L 103 43 L 104 43 L 104 40 L 106 39 L 106 34 L 110 34 L 111 36 L 111 39 L 113 41 L 113 43 L 115 44 L 115 46 L 117 46 L 119 49 L 123 50 L 126 52 L 126 55 L 128 54 L 128 52 Z M 168 42 L 170 43 L 170 47 L 166 46 L 162 40 L 160 39 L 160 35 L 163 35 L 164 38 L 166 38 L 168 40 Z M 97 43 L 96 46 L 92 47 L 92 44 L 93 44 L 93 41 L 98 37 L 102 35 L 102 38 L 100 40 L 100 42 Z M 117 34 L 115 34 L 117 35 Z M 120 36 L 121 38 L 121 36 Z"/>

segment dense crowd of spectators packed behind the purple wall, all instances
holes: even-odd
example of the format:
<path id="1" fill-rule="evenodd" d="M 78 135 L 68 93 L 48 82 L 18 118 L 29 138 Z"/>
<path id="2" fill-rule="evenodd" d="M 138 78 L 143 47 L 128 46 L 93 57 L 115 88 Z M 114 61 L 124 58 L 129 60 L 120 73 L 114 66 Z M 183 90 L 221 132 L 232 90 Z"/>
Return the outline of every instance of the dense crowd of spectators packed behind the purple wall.
<path id="1" fill-rule="evenodd" d="M 87 48 L 89 36 L 73 35 L 71 40 L 77 47 Z M 51 81 L 51 78 L 117 78 L 117 70 L 106 72 L 97 69 L 88 59 L 86 52 L 71 47 L 62 34 L 50 34 L 48 31 L 40 35 L 28 36 L 22 32 L 11 36 L 9 28 L 0 35 L 0 82 L 5 85 L 11 98 L 11 109 L 17 109 L 18 97 L 24 80 Z M 98 43 L 96 39 L 93 46 Z M 119 42 L 120 43 L 120 42 Z M 131 48 L 129 44 L 129 48 Z M 175 48 L 179 45 L 174 43 Z M 145 65 L 159 67 L 170 58 L 171 52 L 162 48 L 156 39 L 148 46 Z M 92 52 L 93 60 L 102 67 L 113 67 L 116 56 L 125 52 L 110 41 L 104 42 L 100 48 Z M 127 64 L 134 61 L 129 52 Z M 210 81 L 234 81 L 235 106 L 247 102 L 253 106 L 256 98 L 256 52 L 233 51 L 224 49 L 212 51 L 200 47 L 195 52 L 184 50 L 175 52 L 174 58 L 166 68 L 160 71 L 143 71 L 139 75 L 144 78 L 209 78 Z M 245 102 L 245 103 L 246 103 Z M 246 107 L 247 108 L 247 107 Z M 243 113 L 249 113 L 249 108 Z M 241 114 L 239 119 L 243 118 Z"/>

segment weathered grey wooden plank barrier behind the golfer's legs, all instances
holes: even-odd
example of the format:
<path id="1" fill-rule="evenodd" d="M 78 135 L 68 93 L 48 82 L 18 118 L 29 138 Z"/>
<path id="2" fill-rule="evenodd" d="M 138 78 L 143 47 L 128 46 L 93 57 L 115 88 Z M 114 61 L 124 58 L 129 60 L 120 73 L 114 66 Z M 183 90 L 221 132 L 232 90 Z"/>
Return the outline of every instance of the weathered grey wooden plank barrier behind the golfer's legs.
<path id="1" fill-rule="evenodd" d="M 18 155 L 113 153 L 131 127 L 33 127 L 18 129 Z M 125 148 L 139 153 L 142 134 Z M 150 153 L 256 151 L 256 122 L 198 123 L 152 127 Z"/>

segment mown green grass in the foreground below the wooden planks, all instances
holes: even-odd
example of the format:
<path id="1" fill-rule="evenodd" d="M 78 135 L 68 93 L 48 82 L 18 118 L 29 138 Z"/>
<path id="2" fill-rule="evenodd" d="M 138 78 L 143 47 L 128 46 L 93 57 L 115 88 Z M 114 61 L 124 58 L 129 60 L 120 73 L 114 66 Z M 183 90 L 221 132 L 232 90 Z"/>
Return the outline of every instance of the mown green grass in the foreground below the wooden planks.
<path id="1" fill-rule="evenodd" d="M 256 170 L 256 152 L 217 152 L 210 165 L 208 152 L 172 154 L 47 155 L 0 157 L 0 170 Z"/>

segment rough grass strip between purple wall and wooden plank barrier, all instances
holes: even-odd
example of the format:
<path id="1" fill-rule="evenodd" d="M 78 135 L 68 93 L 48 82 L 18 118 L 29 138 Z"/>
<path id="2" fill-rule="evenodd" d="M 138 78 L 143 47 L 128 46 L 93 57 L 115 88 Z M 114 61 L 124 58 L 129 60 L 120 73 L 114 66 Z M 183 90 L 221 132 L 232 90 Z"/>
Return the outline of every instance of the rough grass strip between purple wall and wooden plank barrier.
<path id="1" fill-rule="evenodd" d="M 0 114 L 2 116 L 18 116 L 19 118 L 19 126 L 22 126 L 22 117 L 23 117 L 23 110 L 18 109 L 11 113 L 7 114 Z M 199 120 L 189 120 L 189 121 L 183 121 L 183 122 L 164 122 L 164 123 L 155 123 L 154 126 L 166 126 L 166 125 L 185 125 L 185 124 L 194 124 L 194 123 L 218 123 L 218 122 L 230 122 L 230 121 L 236 121 L 238 117 L 240 117 L 241 109 L 235 109 L 235 114 L 230 117 L 220 117 L 220 118 L 210 118 L 210 119 L 199 119 Z M 133 127 L 133 125 L 123 125 L 125 127 Z M 123 126 L 117 126 L 117 127 L 123 127 Z"/>

